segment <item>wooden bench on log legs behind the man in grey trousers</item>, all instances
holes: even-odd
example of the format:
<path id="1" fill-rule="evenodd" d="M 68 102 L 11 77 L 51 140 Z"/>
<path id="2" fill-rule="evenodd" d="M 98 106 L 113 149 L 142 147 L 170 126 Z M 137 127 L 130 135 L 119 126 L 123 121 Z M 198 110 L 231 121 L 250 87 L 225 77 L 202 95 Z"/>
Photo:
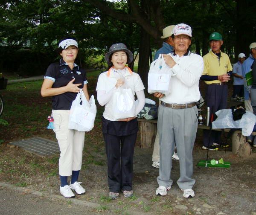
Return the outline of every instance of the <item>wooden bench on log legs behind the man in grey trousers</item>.
<path id="1" fill-rule="evenodd" d="M 151 148 L 154 146 L 154 140 L 157 134 L 157 120 L 138 119 L 140 122 L 140 140 L 141 148 Z M 207 129 L 210 127 L 206 125 L 198 125 L 198 129 Z M 212 129 L 214 131 L 221 131 L 221 129 Z M 225 132 L 229 132 L 230 129 L 224 129 Z M 256 132 L 252 133 L 256 135 Z M 241 130 L 237 130 L 232 134 L 232 152 L 241 157 L 246 157 L 251 153 L 250 144 L 245 141 L 245 137 L 242 135 Z"/>

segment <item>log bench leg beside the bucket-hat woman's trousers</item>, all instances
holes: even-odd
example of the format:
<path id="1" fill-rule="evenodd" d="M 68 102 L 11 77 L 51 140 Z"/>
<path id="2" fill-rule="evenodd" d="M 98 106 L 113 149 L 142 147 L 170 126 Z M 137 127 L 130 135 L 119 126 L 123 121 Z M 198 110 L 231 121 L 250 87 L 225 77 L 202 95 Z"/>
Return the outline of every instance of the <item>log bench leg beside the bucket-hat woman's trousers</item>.
<path id="1" fill-rule="evenodd" d="M 157 135 L 157 123 L 140 121 L 140 148 L 151 148 Z"/>

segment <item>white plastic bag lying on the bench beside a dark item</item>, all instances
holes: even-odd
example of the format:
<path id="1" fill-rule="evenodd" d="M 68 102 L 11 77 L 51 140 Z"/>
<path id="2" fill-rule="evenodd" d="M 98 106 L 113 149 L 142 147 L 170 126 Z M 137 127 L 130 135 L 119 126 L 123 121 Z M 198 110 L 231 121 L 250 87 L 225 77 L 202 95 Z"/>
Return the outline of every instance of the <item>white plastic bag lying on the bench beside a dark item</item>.
<path id="1" fill-rule="evenodd" d="M 249 111 L 246 111 L 242 118 L 236 121 L 233 120 L 231 109 L 218 110 L 215 114 L 218 117 L 215 121 L 212 122 L 213 129 L 241 128 L 242 134 L 247 137 L 250 136 L 250 134 L 253 132 L 253 127 L 256 123 L 256 116 Z"/>

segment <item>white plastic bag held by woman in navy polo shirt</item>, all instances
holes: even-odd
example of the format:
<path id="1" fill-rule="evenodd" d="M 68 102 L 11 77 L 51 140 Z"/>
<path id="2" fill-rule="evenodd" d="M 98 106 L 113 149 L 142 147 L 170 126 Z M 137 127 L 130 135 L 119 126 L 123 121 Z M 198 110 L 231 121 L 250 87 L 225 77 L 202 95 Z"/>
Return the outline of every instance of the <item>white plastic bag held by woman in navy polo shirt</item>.
<path id="1" fill-rule="evenodd" d="M 77 131 L 92 130 L 96 112 L 94 96 L 91 96 L 88 102 L 83 90 L 80 90 L 70 108 L 68 128 Z"/>

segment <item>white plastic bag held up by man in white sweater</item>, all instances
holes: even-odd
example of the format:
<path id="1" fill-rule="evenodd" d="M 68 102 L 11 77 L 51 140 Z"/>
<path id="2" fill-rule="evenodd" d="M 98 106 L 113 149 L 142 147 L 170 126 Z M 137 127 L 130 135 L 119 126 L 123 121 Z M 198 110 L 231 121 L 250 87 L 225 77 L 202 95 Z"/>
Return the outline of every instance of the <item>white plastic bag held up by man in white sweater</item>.
<path id="1" fill-rule="evenodd" d="M 150 64 L 148 72 L 148 90 L 151 93 L 171 93 L 172 76 L 176 75 L 165 63 L 163 55 Z"/>

